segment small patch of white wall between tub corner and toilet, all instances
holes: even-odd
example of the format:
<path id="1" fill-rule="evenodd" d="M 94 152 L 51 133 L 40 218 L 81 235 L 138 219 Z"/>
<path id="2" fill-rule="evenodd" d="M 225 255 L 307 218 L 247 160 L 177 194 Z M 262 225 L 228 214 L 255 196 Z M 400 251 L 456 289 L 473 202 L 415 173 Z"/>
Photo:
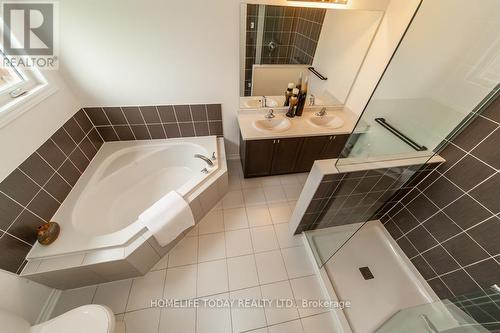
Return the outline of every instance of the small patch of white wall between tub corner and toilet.
<path id="1" fill-rule="evenodd" d="M 35 324 L 54 289 L 0 270 L 0 309 Z"/>

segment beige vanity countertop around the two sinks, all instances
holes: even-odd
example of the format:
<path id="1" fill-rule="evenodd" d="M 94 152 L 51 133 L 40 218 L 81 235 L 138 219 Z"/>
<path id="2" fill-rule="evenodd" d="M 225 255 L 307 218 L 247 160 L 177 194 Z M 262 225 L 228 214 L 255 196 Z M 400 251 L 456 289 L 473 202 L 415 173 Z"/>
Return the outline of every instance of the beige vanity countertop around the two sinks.
<path id="1" fill-rule="evenodd" d="M 255 120 L 265 119 L 268 109 L 259 110 L 240 110 L 238 113 L 238 124 L 243 140 L 264 140 L 264 139 L 279 139 L 279 138 L 294 138 L 306 136 L 323 136 L 323 135 L 342 135 L 351 134 L 358 116 L 349 110 L 342 108 L 329 108 L 327 111 L 328 116 L 336 116 L 344 121 L 340 128 L 332 129 L 328 127 L 318 127 L 312 125 L 308 118 L 317 117 L 315 113 L 317 109 L 312 111 L 304 110 L 302 117 L 288 118 L 292 125 L 289 129 L 283 132 L 268 132 L 261 131 L 254 126 Z M 286 118 L 285 110 L 275 109 L 274 119 Z"/>

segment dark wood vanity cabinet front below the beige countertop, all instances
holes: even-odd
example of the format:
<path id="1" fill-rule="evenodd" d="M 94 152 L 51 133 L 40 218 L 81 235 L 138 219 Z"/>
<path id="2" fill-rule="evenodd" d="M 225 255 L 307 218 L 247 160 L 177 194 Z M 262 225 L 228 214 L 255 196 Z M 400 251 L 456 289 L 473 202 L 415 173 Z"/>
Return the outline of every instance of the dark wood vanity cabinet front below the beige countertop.
<path id="1" fill-rule="evenodd" d="M 338 158 L 348 134 L 243 140 L 240 157 L 245 178 L 309 172 L 315 160 Z"/>

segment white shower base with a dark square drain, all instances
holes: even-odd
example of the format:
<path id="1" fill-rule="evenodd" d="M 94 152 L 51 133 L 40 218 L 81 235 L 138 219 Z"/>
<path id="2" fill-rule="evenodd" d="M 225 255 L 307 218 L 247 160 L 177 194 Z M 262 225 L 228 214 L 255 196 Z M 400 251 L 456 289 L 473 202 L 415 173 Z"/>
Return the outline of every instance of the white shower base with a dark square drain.
<path id="1" fill-rule="evenodd" d="M 313 233 L 324 242 L 328 234 L 338 238 L 337 231 Z M 312 244 L 311 255 L 317 252 Z M 363 279 L 359 268 L 366 266 L 374 279 Z M 337 311 L 338 332 L 372 333 L 399 310 L 439 300 L 380 221 L 366 223 L 320 272 L 332 299 L 351 302 Z"/>

